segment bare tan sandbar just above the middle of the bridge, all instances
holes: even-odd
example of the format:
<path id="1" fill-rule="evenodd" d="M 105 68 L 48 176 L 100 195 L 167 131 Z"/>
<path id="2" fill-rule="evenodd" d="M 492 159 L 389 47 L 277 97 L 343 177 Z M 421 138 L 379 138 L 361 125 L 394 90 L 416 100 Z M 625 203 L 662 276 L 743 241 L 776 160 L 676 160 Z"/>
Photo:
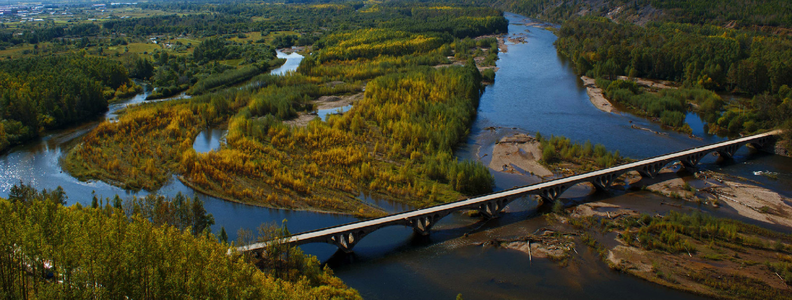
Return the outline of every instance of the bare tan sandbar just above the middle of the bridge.
<path id="1" fill-rule="evenodd" d="M 539 164 L 542 150 L 539 141 L 525 134 L 508 135 L 495 144 L 489 168 L 498 172 L 531 173 L 539 177 L 553 176 L 549 169 Z"/>

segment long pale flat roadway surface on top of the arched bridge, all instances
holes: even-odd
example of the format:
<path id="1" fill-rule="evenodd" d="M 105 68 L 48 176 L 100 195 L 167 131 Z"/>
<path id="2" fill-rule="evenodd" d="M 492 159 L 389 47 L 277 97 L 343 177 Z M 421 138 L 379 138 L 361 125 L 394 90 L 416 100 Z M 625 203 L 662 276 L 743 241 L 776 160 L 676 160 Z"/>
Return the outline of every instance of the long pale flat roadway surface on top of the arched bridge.
<path id="1" fill-rule="evenodd" d="M 767 135 L 773 135 L 773 134 L 774 134 L 774 132 L 768 132 L 768 133 L 763 133 L 763 134 L 759 134 L 759 135 L 749 135 L 749 136 L 745 136 L 745 137 L 740 138 L 740 139 L 732 139 L 732 140 L 729 140 L 729 141 L 716 142 L 716 143 L 713 143 L 713 144 L 710 144 L 710 145 L 699 146 L 699 147 L 695 147 L 695 148 L 688 149 L 688 150 L 680 150 L 680 151 L 677 151 L 677 152 L 674 152 L 674 153 L 671 153 L 671 154 L 664 154 L 664 155 L 660 155 L 660 156 L 653 157 L 653 158 L 645 158 L 645 159 L 642 159 L 642 160 L 639 160 L 639 161 L 632 161 L 632 162 L 625 163 L 625 164 L 622 164 L 622 165 L 615 165 L 615 166 L 613 166 L 611 168 L 607 168 L 607 169 L 600 169 L 600 170 L 596 170 L 596 171 L 592 171 L 592 172 L 588 172 L 588 173 L 581 173 L 581 174 L 573 175 L 573 176 L 570 176 L 570 177 L 558 178 L 558 179 L 555 179 L 555 180 L 549 180 L 549 181 L 541 182 L 539 184 L 531 184 L 531 185 L 527 185 L 527 186 L 520 187 L 520 188 L 512 188 L 512 189 L 508 189 L 508 190 L 501 191 L 501 192 L 494 192 L 494 193 L 491 193 L 491 194 L 488 194 L 488 195 L 477 196 L 477 197 L 474 197 L 474 198 L 463 199 L 463 200 L 459 200 L 459 201 L 455 201 L 455 202 L 439 204 L 439 205 L 432 206 L 432 207 L 425 207 L 425 208 L 415 209 L 415 210 L 412 210 L 412 211 L 404 211 L 404 212 L 397 213 L 397 214 L 394 214 L 394 215 L 386 215 L 384 217 L 371 218 L 371 219 L 367 219 L 367 220 L 363 220 L 363 221 L 352 222 L 352 223 L 343 224 L 343 225 L 339 225 L 339 226 L 333 226 L 333 227 L 329 227 L 329 228 L 325 228 L 325 229 L 321 229 L 321 230 L 308 231 L 308 232 L 305 232 L 305 233 L 302 233 L 302 234 L 292 235 L 291 237 L 289 237 L 287 242 L 299 243 L 299 241 L 302 241 L 302 240 L 313 239 L 313 238 L 316 238 L 316 237 L 325 237 L 325 236 L 329 236 L 329 235 L 333 235 L 333 234 L 341 234 L 341 233 L 349 232 L 349 231 L 356 230 L 356 229 L 359 229 L 359 228 L 364 228 L 364 227 L 369 227 L 369 226 L 378 226 L 378 225 L 381 225 L 381 224 L 386 224 L 386 223 L 391 223 L 391 222 L 398 222 L 399 220 L 403 220 L 403 219 L 407 219 L 407 218 L 413 218 L 413 217 L 419 217 L 421 215 L 431 215 L 432 213 L 435 213 L 435 212 L 448 211 L 448 210 L 453 210 L 455 208 L 461 209 L 462 207 L 471 207 L 471 206 L 474 206 L 474 205 L 476 205 L 478 203 L 485 203 L 485 202 L 487 202 L 489 200 L 493 200 L 493 199 L 505 198 L 505 197 L 508 197 L 508 196 L 523 196 L 523 195 L 535 193 L 535 191 L 541 190 L 543 188 L 550 188 L 550 187 L 556 186 L 558 184 L 563 184 L 563 183 L 577 184 L 578 182 L 581 182 L 582 180 L 586 180 L 586 179 L 588 179 L 590 177 L 596 177 L 596 176 L 605 175 L 605 174 L 608 174 L 608 173 L 626 172 L 626 171 L 629 171 L 631 169 L 639 168 L 642 165 L 645 165 L 645 164 L 648 164 L 648 163 L 653 163 L 653 162 L 658 162 L 658 161 L 672 161 L 672 160 L 675 160 L 675 159 L 678 159 L 680 157 L 684 157 L 684 156 L 687 156 L 687 155 L 690 155 L 690 154 L 697 154 L 699 152 L 706 151 L 706 150 L 715 150 L 715 149 L 718 149 L 719 147 L 722 147 L 722 146 L 728 146 L 728 145 L 732 145 L 732 144 L 740 144 L 740 143 L 744 143 L 744 142 L 750 142 L 753 139 L 758 139 L 758 138 L 761 138 L 761 137 L 764 137 L 764 136 L 767 136 Z M 263 248 L 264 246 L 265 246 L 265 243 L 257 243 L 257 244 L 253 244 L 253 245 L 243 246 L 243 247 L 240 247 L 239 249 L 244 251 L 244 250 L 250 250 L 250 249 L 260 249 L 260 248 Z"/>

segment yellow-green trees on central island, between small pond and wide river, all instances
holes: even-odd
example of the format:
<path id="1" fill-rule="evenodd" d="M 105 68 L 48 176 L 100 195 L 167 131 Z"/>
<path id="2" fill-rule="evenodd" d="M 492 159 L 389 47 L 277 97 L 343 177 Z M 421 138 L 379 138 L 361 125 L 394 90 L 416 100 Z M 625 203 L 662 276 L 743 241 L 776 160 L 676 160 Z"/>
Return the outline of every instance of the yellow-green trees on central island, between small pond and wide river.
<path id="1" fill-rule="evenodd" d="M 475 111 L 478 70 L 419 70 L 375 78 L 350 112 L 307 127 L 281 120 L 310 109 L 306 97 L 330 90 L 310 88 L 312 78 L 296 74 L 271 83 L 230 119 L 227 147 L 185 151 L 185 180 L 246 203 L 365 216 L 377 211 L 354 199 L 361 189 L 417 206 L 489 192 L 492 177 L 483 165 L 451 155 Z"/>

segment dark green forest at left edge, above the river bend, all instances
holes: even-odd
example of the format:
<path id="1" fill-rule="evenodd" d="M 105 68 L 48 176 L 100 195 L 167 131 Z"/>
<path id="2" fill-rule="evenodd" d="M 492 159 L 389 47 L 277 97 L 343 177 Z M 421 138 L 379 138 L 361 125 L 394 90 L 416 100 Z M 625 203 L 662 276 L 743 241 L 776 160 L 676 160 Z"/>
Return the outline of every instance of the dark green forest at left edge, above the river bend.
<path id="1" fill-rule="evenodd" d="M 42 129 L 93 119 L 108 101 L 134 93 L 120 63 L 83 55 L 0 62 L 0 151 Z"/>

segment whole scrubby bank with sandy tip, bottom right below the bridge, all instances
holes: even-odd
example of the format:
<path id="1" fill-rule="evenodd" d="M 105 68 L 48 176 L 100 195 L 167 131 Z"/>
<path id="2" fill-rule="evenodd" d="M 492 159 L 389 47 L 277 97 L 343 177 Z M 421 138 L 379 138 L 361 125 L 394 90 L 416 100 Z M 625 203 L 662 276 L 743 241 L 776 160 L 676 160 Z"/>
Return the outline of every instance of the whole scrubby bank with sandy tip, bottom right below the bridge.
<path id="1" fill-rule="evenodd" d="M 552 228 L 579 235 L 613 269 L 711 298 L 790 298 L 792 236 L 786 232 L 697 211 L 647 215 L 612 203 L 573 209 L 558 203 L 546 216 L 560 221 Z"/>

